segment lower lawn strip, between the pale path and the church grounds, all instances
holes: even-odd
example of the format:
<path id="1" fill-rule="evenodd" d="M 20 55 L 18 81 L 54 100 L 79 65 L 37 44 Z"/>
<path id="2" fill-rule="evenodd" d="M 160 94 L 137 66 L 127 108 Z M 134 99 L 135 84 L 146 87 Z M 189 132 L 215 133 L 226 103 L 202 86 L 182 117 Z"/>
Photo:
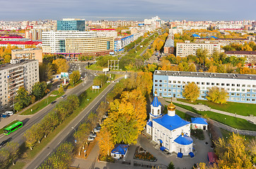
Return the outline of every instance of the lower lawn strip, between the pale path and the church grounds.
<path id="1" fill-rule="evenodd" d="M 235 118 L 235 117 L 232 117 L 232 116 L 229 116 L 229 115 L 214 113 L 212 111 L 196 111 L 191 106 L 185 106 L 185 105 L 176 104 L 176 103 L 173 103 L 173 104 L 175 104 L 176 106 L 180 106 L 182 108 L 185 108 L 188 111 L 192 111 L 192 112 L 198 113 L 200 115 L 206 115 L 206 117 L 211 118 L 212 120 L 216 120 L 219 123 L 229 125 L 229 126 L 234 127 L 236 129 L 256 131 L 256 125 L 254 125 L 252 123 L 249 123 L 247 120 L 244 120 L 242 118 Z"/>

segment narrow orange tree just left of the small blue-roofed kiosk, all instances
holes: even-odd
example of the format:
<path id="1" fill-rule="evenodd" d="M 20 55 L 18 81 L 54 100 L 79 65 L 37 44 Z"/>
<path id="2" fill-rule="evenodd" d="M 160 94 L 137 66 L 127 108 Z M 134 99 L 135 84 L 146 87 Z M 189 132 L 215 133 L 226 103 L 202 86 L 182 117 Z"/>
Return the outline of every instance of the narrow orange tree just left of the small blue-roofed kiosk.
<path id="1" fill-rule="evenodd" d="M 110 156 L 111 150 L 114 148 L 111 133 L 107 130 L 107 127 L 103 126 L 98 134 L 100 155 Z"/>

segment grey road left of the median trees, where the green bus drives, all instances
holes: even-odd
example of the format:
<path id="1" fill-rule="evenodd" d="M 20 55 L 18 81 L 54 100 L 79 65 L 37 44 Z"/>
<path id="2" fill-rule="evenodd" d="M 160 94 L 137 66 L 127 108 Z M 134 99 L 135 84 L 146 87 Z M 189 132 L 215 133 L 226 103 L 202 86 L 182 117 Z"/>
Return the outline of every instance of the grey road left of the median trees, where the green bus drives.
<path id="1" fill-rule="evenodd" d="M 86 74 L 88 75 L 87 80 L 85 80 L 81 84 L 78 84 L 77 87 L 74 87 L 73 89 L 69 89 L 69 91 L 66 92 L 67 96 L 69 96 L 71 94 L 79 95 L 83 91 L 88 89 L 88 87 L 91 87 L 91 85 L 93 84 L 94 75 L 89 74 L 89 72 Z M 66 98 L 64 98 L 64 99 L 66 99 Z M 50 104 L 50 105 L 46 106 L 45 108 L 42 108 L 42 110 L 35 113 L 35 115 L 33 115 L 32 117 L 30 116 L 31 118 L 25 118 L 25 120 L 23 120 L 23 127 L 21 127 L 21 129 L 17 130 L 16 132 L 13 132 L 13 133 L 9 134 L 8 136 L 1 134 L 0 142 L 3 142 L 4 140 L 11 138 L 11 141 L 18 142 L 18 144 L 22 144 L 24 142 L 24 138 L 23 138 L 24 132 L 26 130 L 28 130 L 35 123 L 38 123 L 40 120 L 42 120 L 42 118 L 44 118 L 45 115 L 47 115 L 47 113 L 52 111 L 52 109 L 56 106 L 56 104 L 58 104 L 60 101 L 63 101 L 64 99 L 57 99 L 57 103 L 55 103 L 53 105 Z"/>

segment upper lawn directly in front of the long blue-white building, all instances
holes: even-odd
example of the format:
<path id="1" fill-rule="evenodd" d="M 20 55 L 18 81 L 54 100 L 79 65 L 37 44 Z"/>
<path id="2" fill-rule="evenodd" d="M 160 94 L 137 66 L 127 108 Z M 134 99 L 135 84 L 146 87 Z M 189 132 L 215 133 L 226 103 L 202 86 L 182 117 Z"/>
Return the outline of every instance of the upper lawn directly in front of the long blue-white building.
<path id="1" fill-rule="evenodd" d="M 243 103 L 235 103 L 235 102 L 227 102 L 227 104 L 215 104 L 211 101 L 202 101 L 197 100 L 193 103 L 186 100 L 186 99 L 177 99 L 178 101 L 186 102 L 189 104 L 204 104 L 206 106 L 209 106 L 210 108 L 214 108 L 219 111 L 226 111 L 229 113 L 237 113 L 239 115 L 254 115 L 256 116 L 256 104 L 243 104 Z"/>

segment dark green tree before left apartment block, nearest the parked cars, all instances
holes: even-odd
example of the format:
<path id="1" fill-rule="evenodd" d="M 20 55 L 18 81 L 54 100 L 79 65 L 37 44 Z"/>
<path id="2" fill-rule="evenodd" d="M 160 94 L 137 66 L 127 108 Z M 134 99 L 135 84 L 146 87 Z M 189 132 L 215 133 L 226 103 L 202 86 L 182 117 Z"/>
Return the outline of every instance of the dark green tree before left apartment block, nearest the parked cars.
<path id="1" fill-rule="evenodd" d="M 14 106 L 16 111 L 20 111 L 21 108 L 25 108 L 31 102 L 31 97 L 28 95 L 28 91 L 24 87 L 20 87 L 17 91 L 17 96 L 15 97 L 16 104 Z"/>

